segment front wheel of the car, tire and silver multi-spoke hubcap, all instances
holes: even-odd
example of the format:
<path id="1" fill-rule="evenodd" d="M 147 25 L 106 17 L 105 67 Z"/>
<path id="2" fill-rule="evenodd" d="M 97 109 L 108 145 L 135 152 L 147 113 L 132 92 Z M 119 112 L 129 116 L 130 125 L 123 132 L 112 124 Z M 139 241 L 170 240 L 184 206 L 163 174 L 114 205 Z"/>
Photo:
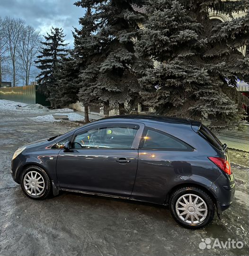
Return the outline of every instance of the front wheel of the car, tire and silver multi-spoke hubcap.
<path id="1" fill-rule="evenodd" d="M 21 188 L 27 197 L 35 200 L 43 200 L 52 191 L 52 183 L 43 168 L 31 165 L 21 174 Z"/>

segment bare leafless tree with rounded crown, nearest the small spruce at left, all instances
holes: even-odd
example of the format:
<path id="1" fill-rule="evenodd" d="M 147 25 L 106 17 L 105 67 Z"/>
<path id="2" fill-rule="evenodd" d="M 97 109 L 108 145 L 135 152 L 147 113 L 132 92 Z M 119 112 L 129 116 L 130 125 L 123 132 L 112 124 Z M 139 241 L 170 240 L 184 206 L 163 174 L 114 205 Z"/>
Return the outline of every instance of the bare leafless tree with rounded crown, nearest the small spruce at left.
<path id="1" fill-rule="evenodd" d="M 36 60 L 37 53 L 41 46 L 41 37 L 34 27 L 27 26 L 19 37 L 18 56 L 25 74 L 25 85 L 29 84 L 31 66 Z"/>

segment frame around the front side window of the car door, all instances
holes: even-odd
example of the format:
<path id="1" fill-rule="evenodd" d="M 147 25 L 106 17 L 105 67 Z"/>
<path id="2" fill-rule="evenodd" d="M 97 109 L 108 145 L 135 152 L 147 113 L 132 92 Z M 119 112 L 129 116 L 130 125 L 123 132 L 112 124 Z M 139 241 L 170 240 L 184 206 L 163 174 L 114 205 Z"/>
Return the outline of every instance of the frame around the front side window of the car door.
<path id="1" fill-rule="evenodd" d="M 142 137 L 142 133 L 144 130 L 145 125 L 143 123 L 140 122 L 129 122 L 129 121 L 116 121 L 114 123 L 112 122 L 104 122 L 104 123 L 99 123 L 99 124 L 92 124 L 92 125 L 88 125 L 88 127 L 82 128 L 80 130 L 75 131 L 75 133 L 72 135 L 70 142 L 73 143 L 75 137 L 81 133 L 85 133 L 91 129 L 94 128 L 108 128 L 107 126 L 113 126 L 113 125 L 137 125 L 139 126 L 139 128 L 137 129 L 136 135 L 133 139 L 133 144 L 131 146 L 131 148 L 98 148 L 98 147 L 86 147 L 86 148 L 72 148 L 71 150 L 138 150 L 139 144 L 140 144 L 140 140 Z"/>

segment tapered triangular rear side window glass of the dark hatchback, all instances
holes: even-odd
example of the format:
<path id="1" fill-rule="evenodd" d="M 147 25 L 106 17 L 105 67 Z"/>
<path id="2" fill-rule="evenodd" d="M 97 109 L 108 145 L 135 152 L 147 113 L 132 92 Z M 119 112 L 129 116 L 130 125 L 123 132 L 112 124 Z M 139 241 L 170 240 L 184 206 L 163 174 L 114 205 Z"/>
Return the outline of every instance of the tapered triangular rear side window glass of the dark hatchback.
<path id="1" fill-rule="evenodd" d="M 147 129 L 141 147 L 144 149 L 193 151 L 193 148 L 180 139 L 164 132 Z"/>

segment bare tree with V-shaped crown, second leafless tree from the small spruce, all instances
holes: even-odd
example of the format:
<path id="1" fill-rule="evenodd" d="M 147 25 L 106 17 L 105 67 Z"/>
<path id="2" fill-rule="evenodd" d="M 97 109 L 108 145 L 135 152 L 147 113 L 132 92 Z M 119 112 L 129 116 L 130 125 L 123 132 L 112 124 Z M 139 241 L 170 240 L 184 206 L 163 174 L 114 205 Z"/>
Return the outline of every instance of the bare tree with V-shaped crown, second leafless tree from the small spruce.
<path id="1" fill-rule="evenodd" d="M 10 17 L 6 17 L 2 21 L 3 33 L 7 39 L 8 50 L 11 58 L 12 64 L 12 79 L 13 86 L 16 86 L 16 78 L 18 74 L 17 67 L 17 56 L 18 56 L 18 46 L 19 39 L 21 34 L 23 33 L 25 21 L 22 19 L 14 19 Z"/>

